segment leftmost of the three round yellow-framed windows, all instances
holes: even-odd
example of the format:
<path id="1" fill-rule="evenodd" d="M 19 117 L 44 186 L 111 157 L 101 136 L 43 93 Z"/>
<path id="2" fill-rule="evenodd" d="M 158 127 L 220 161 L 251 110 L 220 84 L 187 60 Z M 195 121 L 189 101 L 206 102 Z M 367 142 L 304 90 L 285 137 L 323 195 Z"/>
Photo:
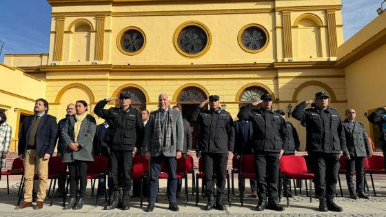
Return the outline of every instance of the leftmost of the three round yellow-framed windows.
<path id="1" fill-rule="evenodd" d="M 116 37 L 116 46 L 126 55 L 139 54 L 145 48 L 145 33 L 134 26 L 125 28 Z"/>

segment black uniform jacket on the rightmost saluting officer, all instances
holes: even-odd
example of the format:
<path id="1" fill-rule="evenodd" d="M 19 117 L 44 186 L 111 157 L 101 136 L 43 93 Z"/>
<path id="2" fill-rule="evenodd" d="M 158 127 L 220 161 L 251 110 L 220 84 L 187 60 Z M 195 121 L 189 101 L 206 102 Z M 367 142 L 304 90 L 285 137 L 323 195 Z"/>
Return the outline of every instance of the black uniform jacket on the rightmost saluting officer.
<path id="1" fill-rule="evenodd" d="M 338 112 L 330 107 L 326 110 L 317 107 L 304 110 L 306 106 L 304 101 L 296 105 L 292 112 L 294 118 L 306 124 L 306 151 L 333 154 L 344 152 L 346 149 L 345 130 Z"/>

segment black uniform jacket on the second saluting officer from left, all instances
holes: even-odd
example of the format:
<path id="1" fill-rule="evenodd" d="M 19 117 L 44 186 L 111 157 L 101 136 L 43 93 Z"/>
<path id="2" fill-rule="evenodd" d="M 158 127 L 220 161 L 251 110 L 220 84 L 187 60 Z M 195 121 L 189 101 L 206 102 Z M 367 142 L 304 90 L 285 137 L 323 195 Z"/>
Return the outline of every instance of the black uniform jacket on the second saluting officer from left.
<path id="1" fill-rule="evenodd" d="M 197 105 L 188 119 L 199 123 L 197 145 L 201 152 L 227 153 L 234 149 L 233 119 L 229 112 L 221 110 L 201 110 Z"/>

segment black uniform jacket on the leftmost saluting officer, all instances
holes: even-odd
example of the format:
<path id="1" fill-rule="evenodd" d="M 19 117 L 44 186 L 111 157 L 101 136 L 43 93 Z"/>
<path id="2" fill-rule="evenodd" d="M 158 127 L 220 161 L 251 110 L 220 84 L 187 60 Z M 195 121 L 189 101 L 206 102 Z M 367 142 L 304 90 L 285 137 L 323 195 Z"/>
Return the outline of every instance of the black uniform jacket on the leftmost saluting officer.
<path id="1" fill-rule="evenodd" d="M 103 141 L 117 150 L 132 151 L 135 147 L 141 149 L 143 143 L 143 121 L 141 112 L 133 107 L 121 110 L 117 107 L 103 109 L 108 101 L 103 99 L 96 103 L 94 113 L 108 121 L 108 129 Z"/>

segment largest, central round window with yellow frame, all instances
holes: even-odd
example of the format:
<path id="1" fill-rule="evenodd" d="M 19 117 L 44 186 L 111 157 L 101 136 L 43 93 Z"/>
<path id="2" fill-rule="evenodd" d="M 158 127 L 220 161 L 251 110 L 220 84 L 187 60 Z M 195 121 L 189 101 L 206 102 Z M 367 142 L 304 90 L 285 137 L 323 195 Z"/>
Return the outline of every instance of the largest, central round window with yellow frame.
<path id="1" fill-rule="evenodd" d="M 211 43 L 209 29 L 198 21 L 185 22 L 174 32 L 174 48 L 185 57 L 202 56 L 209 50 Z"/>

